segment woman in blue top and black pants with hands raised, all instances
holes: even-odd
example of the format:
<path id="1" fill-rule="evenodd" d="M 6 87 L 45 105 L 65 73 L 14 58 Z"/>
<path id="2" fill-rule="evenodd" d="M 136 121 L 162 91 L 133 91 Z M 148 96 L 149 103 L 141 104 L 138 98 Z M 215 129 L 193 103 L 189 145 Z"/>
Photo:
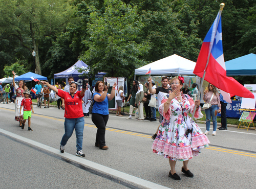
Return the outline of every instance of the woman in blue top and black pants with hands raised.
<path id="1" fill-rule="evenodd" d="M 114 83 L 111 94 L 108 94 L 108 87 L 103 84 L 102 81 L 97 81 L 95 85 L 95 93 L 93 94 L 93 109 L 92 109 L 92 121 L 97 127 L 95 146 L 102 150 L 108 150 L 109 147 L 105 144 L 105 131 L 106 123 L 109 120 L 109 101 L 115 97 Z"/>

